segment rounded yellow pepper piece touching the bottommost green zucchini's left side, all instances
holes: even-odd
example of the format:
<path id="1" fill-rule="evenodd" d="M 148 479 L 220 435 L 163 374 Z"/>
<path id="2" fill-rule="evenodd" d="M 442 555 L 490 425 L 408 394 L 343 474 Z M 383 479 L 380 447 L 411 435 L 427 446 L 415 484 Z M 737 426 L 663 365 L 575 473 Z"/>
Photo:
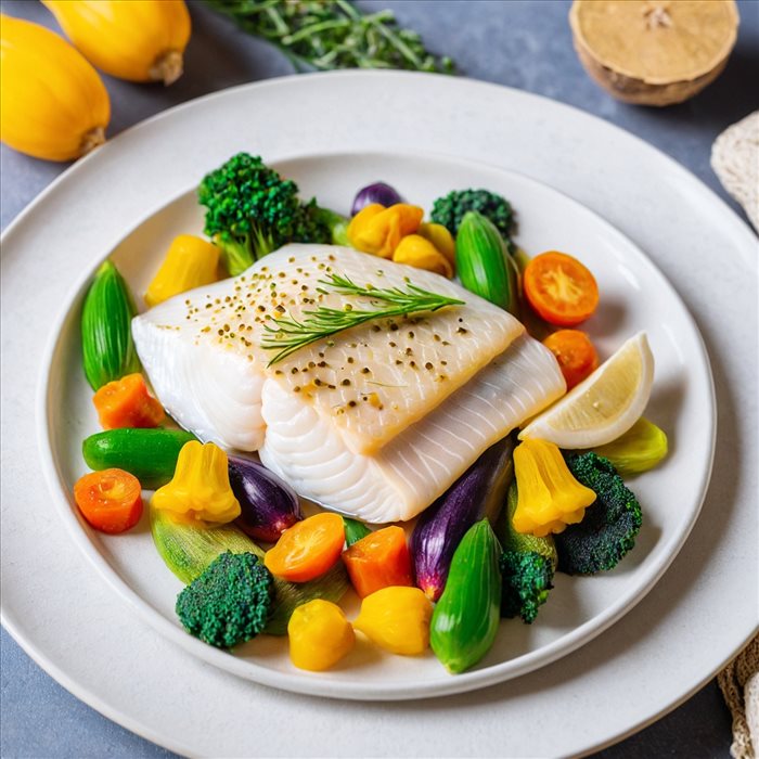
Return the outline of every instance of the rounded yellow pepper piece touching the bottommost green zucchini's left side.
<path id="1" fill-rule="evenodd" d="M 381 648 L 417 656 L 429 645 L 432 616 L 433 604 L 419 588 L 390 587 L 361 602 L 353 627 Z"/>

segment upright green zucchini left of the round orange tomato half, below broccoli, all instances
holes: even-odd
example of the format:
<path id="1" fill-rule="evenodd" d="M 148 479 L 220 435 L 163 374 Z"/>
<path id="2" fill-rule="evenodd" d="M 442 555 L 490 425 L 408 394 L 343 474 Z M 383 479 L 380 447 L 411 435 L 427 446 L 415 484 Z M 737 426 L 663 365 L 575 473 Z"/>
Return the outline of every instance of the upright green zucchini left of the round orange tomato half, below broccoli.
<path id="1" fill-rule="evenodd" d="M 459 226 L 455 267 L 466 290 L 517 316 L 516 263 L 496 224 L 477 211 L 464 214 Z"/>

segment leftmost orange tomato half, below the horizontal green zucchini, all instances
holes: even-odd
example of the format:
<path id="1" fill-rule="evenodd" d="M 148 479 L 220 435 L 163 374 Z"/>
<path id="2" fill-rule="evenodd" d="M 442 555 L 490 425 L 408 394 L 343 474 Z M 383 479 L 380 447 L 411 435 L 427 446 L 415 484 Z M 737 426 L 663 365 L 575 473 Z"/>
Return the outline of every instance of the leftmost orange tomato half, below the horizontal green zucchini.
<path id="1" fill-rule="evenodd" d="M 87 522 L 101 532 L 124 532 L 142 516 L 140 480 L 124 469 L 91 472 L 79 478 L 74 500 Z"/>

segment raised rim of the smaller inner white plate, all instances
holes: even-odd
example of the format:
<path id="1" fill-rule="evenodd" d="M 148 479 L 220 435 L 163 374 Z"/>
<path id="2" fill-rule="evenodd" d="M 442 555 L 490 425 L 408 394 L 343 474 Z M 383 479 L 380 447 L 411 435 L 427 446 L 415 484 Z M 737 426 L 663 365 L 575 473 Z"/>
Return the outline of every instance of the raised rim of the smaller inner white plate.
<path id="1" fill-rule="evenodd" d="M 455 171 L 456 168 L 465 169 L 466 167 L 474 167 L 475 170 L 489 171 L 491 173 L 512 178 L 516 182 L 523 182 L 532 186 L 533 189 L 538 189 L 540 192 L 545 192 L 550 195 L 557 196 L 559 202 L 565 203 L 570 207 L 573 214 L 584 214 L 587 217 L 592 218 L 593 222 L 597 224 L 599 228 L 604 230 L 604 236 L 606 239 L 619 241 L 620 245 L 632 248 L 638 254 L 639 262 L 642 262 L 645 268 L 647 268 L 651 273 L 658 279 L 660 284 L 668 291 L 669 297 L 673 298 L 674 301 L 680 305 L 684 314 L 687 317 L 690 326 L 696 337 L 696 347 L 699 350 L 698 359 L 702 363 L 702 368 L 705 371 L 707 395 L 709 398 L 710 439 L 708 445 L 707 465 L 702 471 L 702 478 L 698 487 L 699 494 L 697 497 L 697 506 L 685 528 L 681 532 L 677 533 L 673 539 L 670 539 L 670 545 L 666 549 L 666 553 L 660 561 L 649 568 L 647 579 L 643 587 L 638 587 L 634 591 L 631 591 L 626 596 L 622 596 L 622 599 L 615 601 L 615 603 L 605 608 L 601 614 L 561 635 L 546 646 L 542 646 L 541 648 L 527 654 L 522 654 L 514 659 L 507 659 L 506 661 L 501 661 L 483 669 L 475 669 L 455 677 L 451 677 L 449 681 L 436 681 L 428 684 L 411 684 L 403 683 L 402 681 L 390 681 L 380 687 L 373 686 L 373 690 L 368 690 L 362 685 L 361 680 L 357 680 L 356 682 L 335 682 L 327 679 L 320 680 L 317 678 L 304 677 L 304 674 L 300 672 L 279 672 L 276 670 L 260 666 L 255 661 L 239 659 L 234 656 L 230 656 L 224 652 L 216 649 L 213 646 L 208 646 L 200 640 L 188 635 L 183 630 L 166 619 L 166 617 L 155 609 L 149 602 L 143 600 L 139 593 L 137 593 L 137 591 L 132 590 L 128 582 L 123 580 L 118 573 L 111 567 L 105 556 L 90 540 L 89 528 L 85 529 L 82 527 L 83 523 L 81 517 L 73 512 L 70 503 L 64 496 L 65 488 L 63 487 L 63 477 L 61 476 L 56 465 L 54 446 L 53 441 L 51 440 L 49 423 L 49 409 L 52 394 L 51 366 L 57 353 L 62 331 L 65 323 L 69 319 L 74 304 L 81 299 L 83 290 L 91 281 L 92 273 L 100 262 L 105 260 L 105 258 L 107 258 L 114 249 L 116 249 L 126 239 L 133 234 L 134 231 L 141 226 L 146 223 L 157 214 L 162 213 L 168 206 L 177 203 L 181 198 L 184 198 L 186 195 L 192 193 L 194 188 L 186 188 L 179 193 L 173 193 L 169 200 L 158 203 L 150 211 L 144 214 L 136 223 L 129 227 L 127 231 L 120 234 L 118 240 L 105 253 L 105 255 L 102 255 L 102 253 L 99 252 L 98 258 L 92 263 L 92 268 L 86 268 L 81 272 L 80 276 L 77 278 L 74 286 L 69 290 L 67 297 L 65 298 L 64 306 L 56 313 L 51 334 L 43 352 L 40 374 L 37 380 L 38 389 L 36 416 L 39 455 L 43 464 L 44 479 L 47 481 L 48 489 L 53 496 L 56 511 L 61 520 L 65 524 L 70 539 L 74 541 L 77 549 L 83 553 L 90 565 L 94 567 L 101 578 L 104 579 L 107 586 L 118 595 L 118 597 L 123 602 L 126 602 L 130 608 L 134 610 L 140 618 L 153 629 L 157 630 L 171 643 L 184 648 L 200 660 L 210 664 L 211 666 L 236 677 L 253 680 L 254 682 L 267 685 L 269 687 L 276 687 L 292 693 L 301 693 L 305 695 L 336 699 L 412 700 L 422 697 L 437 698 L 458 693 L 466 693 L 536 671 L 544 666 L 559 660 L 564 656 L 571 654 L 597 635 L 602 634 L 604 631 L 608 630 L 613 625 L 618 622 L 625 615 L 634 608 L 634 606 L 636 606 L 653 590 L 677 555 L 680 553 L 682 546 L 685 544 L 687 537 L 692 532 L 698 519 L 706 499 L 715 459 L 718 411 L 711 364 L 703 335 L 700 334 L 690 309 L 682 300 L 679 293 L 674 290 L 672 283 L 667 279 L 667 276 L 665 276 L 664 272 L 661 272 L 656 263 L 632 240 L 618 230 L 614 224 L 584 204 L 576 201 L 561 190 L 541 182 L 540 180 L 533 179 L 518 171 L 504 169 L 485 162 L 472 160 L 469 158 L 445 156 L 437 153 L 427 152 L 416 152 L 412 154 L 404 151 L 357 150 L 320 154 L 295 153 L 275 157 L 271 159 L 270 163 L 273 165 L 282 165 L 299 160 L 303 162 L 313 159 L 329 162 L 345 156 L 361 158 L 381 158 L 383 156 L 389 156 L 395 159 L 402 159 L 411 157 L 412 155 L 415 158 L 424 162 L 433 162 L 435 164 L 446 163 L 451 167 L 452 171 Z M 545 649 L 548 649 L 548 653 L 544 653 Z"/>

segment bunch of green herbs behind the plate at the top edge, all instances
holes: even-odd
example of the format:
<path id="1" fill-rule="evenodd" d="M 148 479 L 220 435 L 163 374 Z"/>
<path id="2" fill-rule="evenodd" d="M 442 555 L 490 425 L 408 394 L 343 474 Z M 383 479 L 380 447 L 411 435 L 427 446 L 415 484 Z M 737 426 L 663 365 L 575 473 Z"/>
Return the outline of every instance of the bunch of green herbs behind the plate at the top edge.
<path id="1" fill-rule="evenodd" d="M 242 29 L 276 46 L 296 70 L 406 68 L 453 73 L 451 59 L 430 53 L 398 26 L 391 11 L 363 14 L 347 0 L 207 0 Z"/>

